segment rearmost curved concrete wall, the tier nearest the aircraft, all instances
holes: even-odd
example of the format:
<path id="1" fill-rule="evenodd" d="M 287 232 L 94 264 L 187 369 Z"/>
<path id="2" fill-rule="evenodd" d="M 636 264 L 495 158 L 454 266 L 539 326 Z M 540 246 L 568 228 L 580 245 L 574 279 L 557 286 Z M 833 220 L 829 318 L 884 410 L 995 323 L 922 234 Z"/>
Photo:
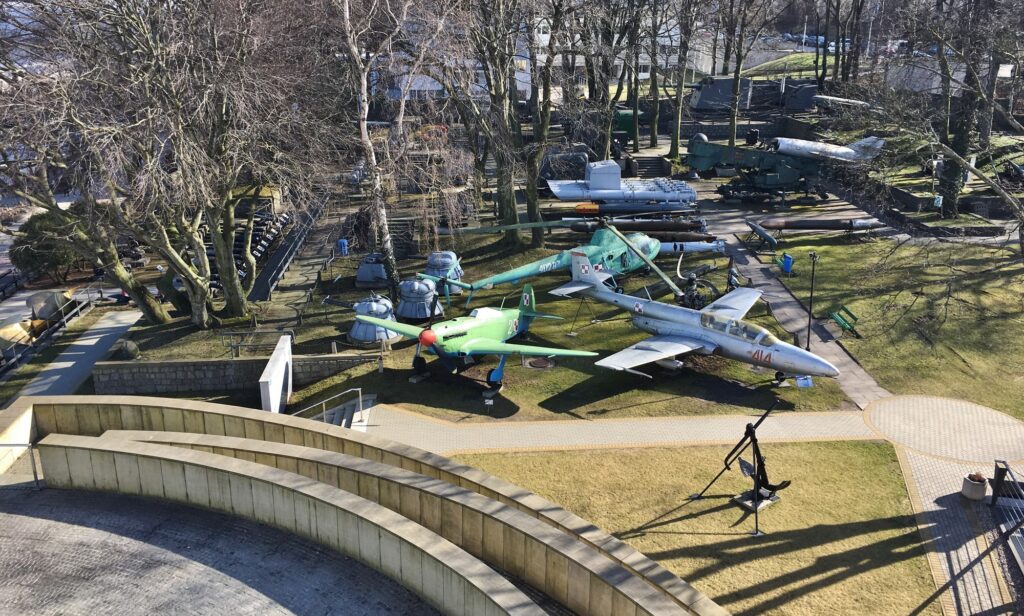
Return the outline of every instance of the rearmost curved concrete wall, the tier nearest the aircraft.
<path id="1" fill-rule="evenodd" d="M 579 537 L 692 614 L 727 614 L 675 574 L 579 516 L 519 486 L 416 447 L 301 417 L 194 400 L 40 396 L 19 398 L 4 412 L 26 408 L 33 409 L 40 436 L 97 436 L 108 430 L 189 432 L 303 445 L 407 469 L 472 490 Z"/>

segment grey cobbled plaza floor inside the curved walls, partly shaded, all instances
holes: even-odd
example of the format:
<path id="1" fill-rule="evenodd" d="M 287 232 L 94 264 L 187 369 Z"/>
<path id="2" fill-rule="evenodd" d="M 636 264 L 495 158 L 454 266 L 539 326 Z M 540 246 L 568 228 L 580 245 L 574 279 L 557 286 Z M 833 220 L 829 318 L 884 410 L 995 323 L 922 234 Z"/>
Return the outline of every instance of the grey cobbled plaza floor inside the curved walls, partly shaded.
<path id="1" fill-rule="evenodd" d="M 389 578 L 231 516 L 0 488 L 3 614 L 435 614 Z"/>

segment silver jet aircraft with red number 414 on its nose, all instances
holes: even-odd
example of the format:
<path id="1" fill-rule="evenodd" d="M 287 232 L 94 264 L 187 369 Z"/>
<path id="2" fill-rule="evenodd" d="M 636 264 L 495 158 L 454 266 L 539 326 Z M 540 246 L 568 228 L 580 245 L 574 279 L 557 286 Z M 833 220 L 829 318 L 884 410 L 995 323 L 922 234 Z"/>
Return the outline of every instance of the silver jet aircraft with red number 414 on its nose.
<path id="1" fill-rule="evenodd" d="M 775 379 L 786 377 L 837 377 L 839 369 L 814 353 L 786 344 L 767 329 L 743 321 L 761 297 L 755 289 L 737 289 L 702 310 L 691 310 L 615 293 L 604 284 L 610 274 L 594 269 L 587 255 L 572 252 L 572 281 L 551 291 L 561 297 L 582 295 L 628 310 L 633 325 L 653 334 L 650 338 L 597 361 L 597 365 L 643 377 L 637 366 L 656 362 L 679 367 L 677 355 L 721 355 L 744 363 L 772 368 Z"/>

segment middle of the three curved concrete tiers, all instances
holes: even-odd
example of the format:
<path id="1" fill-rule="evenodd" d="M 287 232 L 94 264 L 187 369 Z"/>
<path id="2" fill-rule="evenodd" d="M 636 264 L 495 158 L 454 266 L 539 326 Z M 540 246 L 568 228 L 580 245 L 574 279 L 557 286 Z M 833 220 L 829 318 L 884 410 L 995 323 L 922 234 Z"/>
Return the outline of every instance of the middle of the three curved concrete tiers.
<path id="1" fill-rule="evenodd" d="M 225 436 L 109 431 L 124 439 L 186 447 L 284 469 L 336 486 L 436 532 L 578 614 L 683 613 L 675 602 L 577 537 L 438 479 L 360 457 Z"/>

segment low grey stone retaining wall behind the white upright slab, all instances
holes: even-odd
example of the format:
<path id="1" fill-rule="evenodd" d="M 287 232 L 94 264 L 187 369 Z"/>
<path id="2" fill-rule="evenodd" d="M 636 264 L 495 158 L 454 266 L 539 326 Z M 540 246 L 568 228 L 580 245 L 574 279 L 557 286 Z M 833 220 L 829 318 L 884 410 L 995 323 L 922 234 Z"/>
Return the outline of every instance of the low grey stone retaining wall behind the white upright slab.
<path id="1" fill-rule="evenodd" d="M 92 380 L 97 394 L 258 391 L 267 359 L 100 361 L 92 368 Z M 374 360 L 373 355 L 295 355 L 292 358 L 293 385 L 305 387 Z"/>

